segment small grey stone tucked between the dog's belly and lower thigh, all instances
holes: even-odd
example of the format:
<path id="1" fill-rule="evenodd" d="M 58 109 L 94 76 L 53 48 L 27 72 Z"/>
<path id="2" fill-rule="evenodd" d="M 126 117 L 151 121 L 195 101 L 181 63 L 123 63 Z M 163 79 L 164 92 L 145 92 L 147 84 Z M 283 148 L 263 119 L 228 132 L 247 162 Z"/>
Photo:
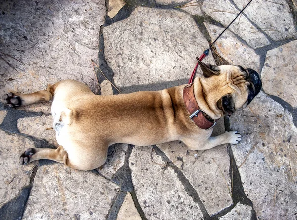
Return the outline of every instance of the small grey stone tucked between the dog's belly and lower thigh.
<path id="1" fill-rule="evenodd" d="M 116 171 L 124 165 L 128 145 L 114 144 L 109 148 L 105 164 L 96 170 L 103 176 L 111 179 Z"/>

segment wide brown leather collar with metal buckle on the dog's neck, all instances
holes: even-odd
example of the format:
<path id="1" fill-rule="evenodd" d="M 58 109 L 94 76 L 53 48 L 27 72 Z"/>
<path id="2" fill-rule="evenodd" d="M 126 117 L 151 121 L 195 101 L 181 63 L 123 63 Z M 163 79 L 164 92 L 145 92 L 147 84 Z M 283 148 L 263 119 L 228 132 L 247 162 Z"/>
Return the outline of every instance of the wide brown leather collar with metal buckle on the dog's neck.
<path id="1" fill-rule="evenodd" d="M 208 130 L 213 128 L 216 124 L 214 119 L 211 119 L 203 110 L 200 110 L 198 103 L 196 102 L 194 96 L 194 86 L 193 83 L 185 86 L 183 91 L 183 98 L 185 106 L 190 113 L 190 119 L 195 122 L 195 124 L 202 129 Z M 208 120 L 204 114 L 210 118 Z"/>

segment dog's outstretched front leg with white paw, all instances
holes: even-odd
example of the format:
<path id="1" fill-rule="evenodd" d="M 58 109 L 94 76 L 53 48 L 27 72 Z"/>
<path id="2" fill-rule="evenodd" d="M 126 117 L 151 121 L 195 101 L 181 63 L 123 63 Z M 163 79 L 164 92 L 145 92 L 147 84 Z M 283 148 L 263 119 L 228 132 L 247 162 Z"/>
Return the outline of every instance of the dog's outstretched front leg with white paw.
<path id="1" fill-rule="evenodd" d="M 206 150 L 216 147 L 221 144 L 238 144 L 242 140 L 241 134 L 238 131 L 225 131 L 225 133 L 220 134 L 215 137 L 209 137 L 206 141 L 201 141 L 201 139 L 189 139 L 185 138 L 182 141 L 191 150 Z"/>

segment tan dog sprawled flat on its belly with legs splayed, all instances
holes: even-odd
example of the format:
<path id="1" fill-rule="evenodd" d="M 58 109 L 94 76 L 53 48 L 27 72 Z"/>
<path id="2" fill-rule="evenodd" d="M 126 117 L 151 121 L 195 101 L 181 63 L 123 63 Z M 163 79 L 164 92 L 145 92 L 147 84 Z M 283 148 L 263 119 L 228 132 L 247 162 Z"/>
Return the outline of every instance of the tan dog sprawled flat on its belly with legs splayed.
<path id="1" fill-rule="evenodd" d="M 98 96 L 81 82 L 65 80 L 31 94 L 7 93 L 4 99 L 12 107 L 53 100 L 51 113 L 59 147 L 29 148 L 21 155 L 20 164 L 49 159 L 74 169 L 92 170 L 105 163 L 107 149 L 114 143 L 146 146 L 181 140 L 191 150 L 239 143 L 237 131 L 210 137 L 212 124 L 247 106 L 261 89 L 259 75 L 240 66 L 198 62 L 204 77 L 195 78 L 193 87 Z M 188 97 L 189 91 L 194 96 Z M 191 99 L 203 112 L 188 106 Z M 192 119 L 198 122 L 190 119 L 191 110 L 195 111 Z M 211 126 L 205 127 L 204 122 Z"/>

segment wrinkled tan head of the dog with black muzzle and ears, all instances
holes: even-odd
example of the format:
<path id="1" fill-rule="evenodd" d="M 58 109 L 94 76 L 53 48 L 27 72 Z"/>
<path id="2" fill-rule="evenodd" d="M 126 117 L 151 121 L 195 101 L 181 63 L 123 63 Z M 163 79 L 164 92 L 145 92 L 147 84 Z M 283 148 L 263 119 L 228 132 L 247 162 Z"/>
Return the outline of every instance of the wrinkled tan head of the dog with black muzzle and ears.
<path id="1" fill-rule="evenodd" d="M 231 116 L 235 110 L 245 108 L 260 92 L 262 81 L 252 69 L 241 66 L 213 66 L 201 62 L 201 85 L 205 101 L 216 113 Z"/>

